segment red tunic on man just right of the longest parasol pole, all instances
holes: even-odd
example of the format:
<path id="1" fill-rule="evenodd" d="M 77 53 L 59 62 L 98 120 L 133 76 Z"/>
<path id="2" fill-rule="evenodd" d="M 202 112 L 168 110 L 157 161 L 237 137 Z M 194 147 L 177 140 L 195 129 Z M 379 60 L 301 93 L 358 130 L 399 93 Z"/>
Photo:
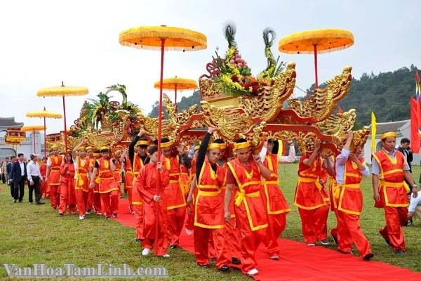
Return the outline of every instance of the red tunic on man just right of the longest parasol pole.
<path id="1" fill-rule="evenodd" d="M 166 197 L 167 209 L 176 209 L 186 206 L 185 197 L 180 187 L 180 164 L 177 157 L 165 158 L 165 166 L 169 172 L 170 181 L 163 188 L 163 194 Z"/>

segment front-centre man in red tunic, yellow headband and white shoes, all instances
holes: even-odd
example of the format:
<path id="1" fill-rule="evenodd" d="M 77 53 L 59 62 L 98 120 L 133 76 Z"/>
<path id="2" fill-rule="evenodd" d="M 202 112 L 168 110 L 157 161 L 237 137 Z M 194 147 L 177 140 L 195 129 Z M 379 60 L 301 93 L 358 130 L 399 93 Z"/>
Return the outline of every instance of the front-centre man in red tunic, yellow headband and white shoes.
<path id="1" fill-rule="evenodd" d="M 268 226 L 267 209 L 261 194 L 262 176 L 269 180 L 271 172 L 259 155 L 252 157 L 248 141 L 239 139 L 234 144 L 236 158 L 227 163 L 227 188 L 225 190 L 225 221 L 231 220 L 229 204 L 235 189 L 236 228 L 241 233 L 241 270 L 248 275 L 259 273 L 256 268 L 255 251 L 266 239 Z"/>

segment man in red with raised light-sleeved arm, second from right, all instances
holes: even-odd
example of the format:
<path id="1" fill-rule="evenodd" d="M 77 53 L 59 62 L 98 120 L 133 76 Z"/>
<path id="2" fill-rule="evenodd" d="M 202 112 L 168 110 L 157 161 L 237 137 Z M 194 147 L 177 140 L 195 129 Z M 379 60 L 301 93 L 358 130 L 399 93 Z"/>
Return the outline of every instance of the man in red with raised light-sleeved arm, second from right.
<path id="1" fill-rule="evenodd" d="M 354 134 L 348 132 L 347 143 L 342 152 L 336 158 L 336 182 L 339 188 L 338 200 L 338 249 L 342 253 L 350 253 L 352 244 L 356 245 L 363 260 L 373 258 L 370 242 L 361 230 L 359 216 L 363 210 L 363 192 L 360 183 L 363 176 L 369 176 L 370 170 L 361 157 L 364 143 L 354 143 L 354 150 L 351 150 Z M 351 152 L 352 151 L 352 152 Z"/>

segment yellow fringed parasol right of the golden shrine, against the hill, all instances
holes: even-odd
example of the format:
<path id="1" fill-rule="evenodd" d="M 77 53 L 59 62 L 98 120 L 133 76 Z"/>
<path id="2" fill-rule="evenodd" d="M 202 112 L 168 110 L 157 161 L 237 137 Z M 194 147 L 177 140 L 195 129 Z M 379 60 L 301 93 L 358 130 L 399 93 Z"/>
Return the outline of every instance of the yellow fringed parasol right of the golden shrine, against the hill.
<path id="1" fill-rule="evenodd" d="M 347 30 L 307 30 L 283 37 L 278 49 L 282 53 L 314 53 L 315 87 L 317 80 L 317 54 L 330 53 L 348 48 L 354 44 L 354 35 Z"/>

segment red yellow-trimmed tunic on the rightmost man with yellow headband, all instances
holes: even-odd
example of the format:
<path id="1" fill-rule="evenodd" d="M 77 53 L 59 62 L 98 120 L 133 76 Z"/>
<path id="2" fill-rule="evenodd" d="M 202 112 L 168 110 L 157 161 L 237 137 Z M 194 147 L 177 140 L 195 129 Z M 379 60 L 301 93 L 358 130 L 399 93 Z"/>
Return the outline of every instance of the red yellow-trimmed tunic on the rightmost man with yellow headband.
<path id="1" fill-rule="evenodd" d="M 394 158 L 385 152 L 379 150 L 373 154 L 380 166 L 380 202 L 375 207 L 408 207 L 409 191 L 408 185 L 403 176 L 403 166 L 406 162 L 405 156 L 400 151 L 396 151 Z"/>

